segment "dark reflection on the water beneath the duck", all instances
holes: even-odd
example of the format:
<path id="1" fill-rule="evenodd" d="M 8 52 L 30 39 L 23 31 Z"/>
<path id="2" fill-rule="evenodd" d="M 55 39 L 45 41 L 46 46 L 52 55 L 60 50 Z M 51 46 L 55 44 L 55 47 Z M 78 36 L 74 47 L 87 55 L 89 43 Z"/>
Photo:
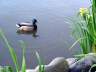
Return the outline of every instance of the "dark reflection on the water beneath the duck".
<path id="1" fill-rule="evenodd" d="M 37 30 L 34 31 L 21 31 L 21 30 L 17 30 L 16 32 L 18 35 L 24 34 L 24 35 L 32 35 L 32 37 L 37 38 L 39 37 L 39 35 L 37 35 Z"/>

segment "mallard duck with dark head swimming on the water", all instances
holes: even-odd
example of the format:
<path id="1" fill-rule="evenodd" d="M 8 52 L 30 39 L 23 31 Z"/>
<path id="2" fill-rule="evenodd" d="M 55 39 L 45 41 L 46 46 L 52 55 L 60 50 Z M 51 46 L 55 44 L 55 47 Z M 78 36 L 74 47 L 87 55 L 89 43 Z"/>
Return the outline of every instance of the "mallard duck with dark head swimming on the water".
<path id="1" fill-rule="evenodd" d="M 33 19 L 32 22 L 21 22 L 16 24 L 18 31 L 20 32 L 34 32 L 37 31 L 37 19 Z"/>

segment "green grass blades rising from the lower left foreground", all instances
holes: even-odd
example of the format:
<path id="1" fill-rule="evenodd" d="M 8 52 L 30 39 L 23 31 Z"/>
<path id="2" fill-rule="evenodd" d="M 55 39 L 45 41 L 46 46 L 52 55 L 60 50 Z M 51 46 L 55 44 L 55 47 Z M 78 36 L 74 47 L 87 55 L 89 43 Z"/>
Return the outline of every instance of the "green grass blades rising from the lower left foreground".
<path id="1" fill-rule="evenodd" d="M 20 70 L 21 70 L 21 72 L 26 72 L 26 58 L 25 58 L 26 44 L 22 40 L 20 41 L 20 45 L 23 50 L 22 67 L 20 68 L 19 63 L 18 63 L 17 54 L 16 54 L 14 48 L 10 45 L 9 41 L 7 40 L 7 38 L 4 35 L 4 32 L 1 29 L 0 29 L 0 37 L 3 39 L 3 41 L 5 42 L 5 45 L 9 49 L 9 52 L 12 57 L 13 63 L 15 65 L 15 70 L 16 70 L 16 71 L 13 71 L 13 68 L 11 66 L 5 66 L 5 67 L 1 66 L 0 72 L 20 72 Z M 43 62 L 41 61 L 41 58 L 37 51 L 36 51 L 36 57 L 37 57 L 37 60 L 39 63 L 39 72 L 45 72 Z"/>

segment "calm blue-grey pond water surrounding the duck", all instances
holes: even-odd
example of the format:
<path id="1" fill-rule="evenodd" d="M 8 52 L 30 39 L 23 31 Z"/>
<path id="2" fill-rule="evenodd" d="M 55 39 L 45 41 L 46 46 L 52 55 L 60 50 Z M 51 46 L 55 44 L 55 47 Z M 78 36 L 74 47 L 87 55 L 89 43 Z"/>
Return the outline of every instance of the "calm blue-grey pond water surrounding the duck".
<path id="1" fill-rule="evenodd" d="M 86 0 L 0 0 L 0 27 L 17 52 L 21 63 L 22 49 L 19 40 L 27 43 L 26 61 L 27 68 L 34 68 L 37 60 L 34 51 L 48 64 L 58 56 L 72 57 L 80 49 L 68 49 L 74 42 L 70 35 L 68 18 L 74 17 L 80 7 L 88 7 Z M 32 35 L 18 35 L 16 23 L 38 20 L 39 37 Z M 0 40 L 0 65 L 13 64 L 5 44 Z"/>

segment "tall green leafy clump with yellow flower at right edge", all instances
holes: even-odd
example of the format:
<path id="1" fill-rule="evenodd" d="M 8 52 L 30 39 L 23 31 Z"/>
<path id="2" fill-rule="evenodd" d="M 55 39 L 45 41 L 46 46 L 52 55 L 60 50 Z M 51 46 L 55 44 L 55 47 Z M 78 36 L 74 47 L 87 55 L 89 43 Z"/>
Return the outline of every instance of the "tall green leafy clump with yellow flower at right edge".
<path id="1" fill-rule="evenodd" d="M 79 42 L 83 54 L 96 53 L 96 0 L 91 0 L 91 4 L 89 8 L 80 8 L 72 27 L 76 39 L 72 47 Z"/>

